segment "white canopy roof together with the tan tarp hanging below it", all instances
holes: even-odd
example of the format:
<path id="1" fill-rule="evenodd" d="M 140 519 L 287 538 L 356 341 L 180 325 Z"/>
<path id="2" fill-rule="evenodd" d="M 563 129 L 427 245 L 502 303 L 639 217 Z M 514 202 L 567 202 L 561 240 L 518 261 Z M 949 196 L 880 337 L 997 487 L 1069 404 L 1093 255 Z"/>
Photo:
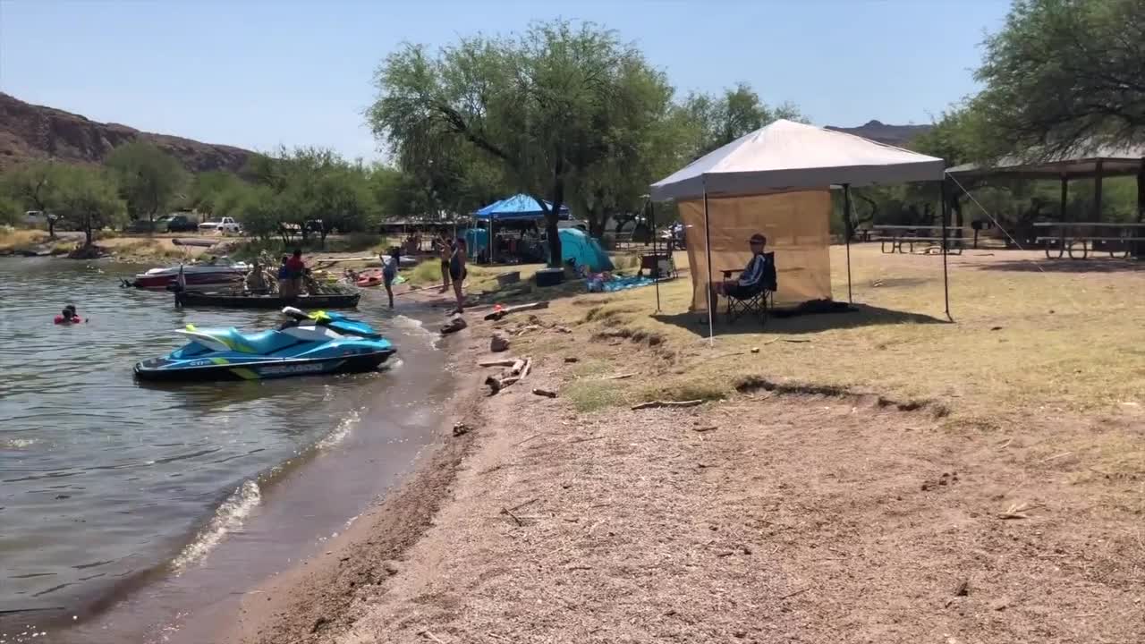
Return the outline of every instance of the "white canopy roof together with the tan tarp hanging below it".
<path id="1" fill-rule="evenodd" d="M 711 325 L 712 270 L 744 266 L 750 234 L 765 234 L 775 252 L 777 300 L 829 299 L 828 189 L 941 181 L 945 167 L 937 157 L 777 120 L 653 183 L 650 195 L 678 202 L 687 225 L 692 308 L 706 308 Z M 848 260 L 848 292 L 850 280 Z"/>

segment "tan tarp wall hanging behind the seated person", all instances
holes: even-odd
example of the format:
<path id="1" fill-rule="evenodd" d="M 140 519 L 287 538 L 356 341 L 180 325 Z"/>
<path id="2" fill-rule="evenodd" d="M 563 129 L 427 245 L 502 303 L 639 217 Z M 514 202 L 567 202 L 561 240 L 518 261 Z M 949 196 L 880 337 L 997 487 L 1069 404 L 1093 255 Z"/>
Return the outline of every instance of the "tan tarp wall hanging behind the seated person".
<path id="1" fill-rule="evenodd" d="M 708 257 L 704 248 L 704 202 L 677 204 L 685 225 L 692 267 L 692 309 L 708 311 Z M 830 190 L 800 190 L 731 197 L 708 197 L 712 242 L 712 281 L 721 270 L 739 269 L 751 259 L 748 239 L 767 237 L 775 252 L 779 291 L 775 303 L 798 304 L 831 297 Z"/>

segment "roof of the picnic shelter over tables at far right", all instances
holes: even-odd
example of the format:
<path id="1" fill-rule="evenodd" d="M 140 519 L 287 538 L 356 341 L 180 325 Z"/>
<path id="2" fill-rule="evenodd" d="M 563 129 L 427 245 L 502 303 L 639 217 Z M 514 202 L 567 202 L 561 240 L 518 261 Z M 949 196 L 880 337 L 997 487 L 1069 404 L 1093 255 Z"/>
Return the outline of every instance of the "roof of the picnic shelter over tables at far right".
<path id="1" fill-rule="evenodd" d="M 1098 164 L 1101 174 L 1116 176 L 1137 174 L 1145 158 L 1145 146 L 1091 146 L 1072 152 L 1051 155 L 1040 160 L 1020 157 L 1003 157 L 993 164 L 966 163 L 949 170 L 951 176 L 979 178 L 993 175 L 1018 175 L 1026 179 L 1081 179 L 1096 176 Z"/>

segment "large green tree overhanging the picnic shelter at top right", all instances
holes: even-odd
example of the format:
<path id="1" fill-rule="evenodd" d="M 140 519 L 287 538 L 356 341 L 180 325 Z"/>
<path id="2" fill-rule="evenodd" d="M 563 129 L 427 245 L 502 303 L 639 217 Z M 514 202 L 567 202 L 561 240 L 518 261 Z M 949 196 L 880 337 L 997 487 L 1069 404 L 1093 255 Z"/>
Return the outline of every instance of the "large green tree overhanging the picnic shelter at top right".
<path id="1" fill-rule="evenodd" d="M 995 156 L 1145 143 L 1145 3 L 1016 0 L 986 40 L 973 107 Z"/>

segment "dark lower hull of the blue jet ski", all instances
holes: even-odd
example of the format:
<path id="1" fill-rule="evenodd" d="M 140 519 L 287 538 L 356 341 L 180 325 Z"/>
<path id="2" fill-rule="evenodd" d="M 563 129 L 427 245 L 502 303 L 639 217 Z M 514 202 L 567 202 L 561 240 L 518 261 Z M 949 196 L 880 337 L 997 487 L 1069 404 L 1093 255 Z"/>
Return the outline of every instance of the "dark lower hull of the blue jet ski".
<path id="1" fill-rule="evenodd" d="M 191 380 L 262 380 L 330 374 L 372 371 L 386 362 L 395 350 L 315 359 L 251 359 L 243 362 L 214 363 L 211 359 L 173 361 L 152 358 L 135 364 L 135 377 L 149 382 Z M 183 363 L 183 364 L 179 364 Z"/>

